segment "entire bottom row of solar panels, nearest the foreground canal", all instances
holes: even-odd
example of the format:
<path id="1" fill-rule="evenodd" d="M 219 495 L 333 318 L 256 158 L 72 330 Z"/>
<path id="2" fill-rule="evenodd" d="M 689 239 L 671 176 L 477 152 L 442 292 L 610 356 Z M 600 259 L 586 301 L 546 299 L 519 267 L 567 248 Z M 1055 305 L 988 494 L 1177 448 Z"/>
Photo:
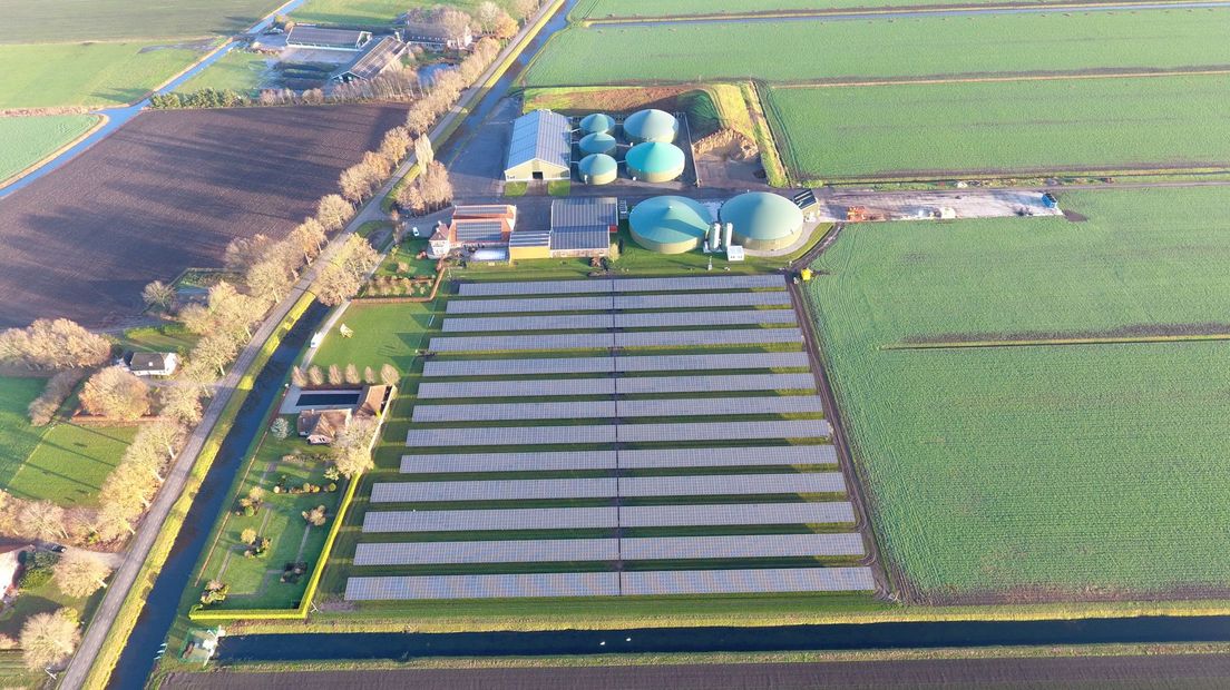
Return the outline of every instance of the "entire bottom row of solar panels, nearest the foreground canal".
<path id="1" fill-rule="evenodd" d="M 544 572 L 531 575 L 435 575 L 351 577 L 348 602 L 381 599 L 503 599 L 522 597 L 643 597 L 654 594 L 748 594 L 870 592 L 871 568 L 809 567 Z"/>

